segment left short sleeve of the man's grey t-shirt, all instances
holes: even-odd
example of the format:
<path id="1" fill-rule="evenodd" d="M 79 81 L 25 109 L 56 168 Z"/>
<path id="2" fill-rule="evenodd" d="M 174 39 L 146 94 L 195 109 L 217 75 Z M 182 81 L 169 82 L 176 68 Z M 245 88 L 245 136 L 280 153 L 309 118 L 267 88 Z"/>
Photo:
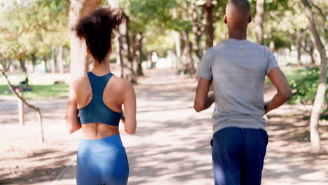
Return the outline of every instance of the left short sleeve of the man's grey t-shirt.
<path id="1" fill-rule="evenodd" d="M 205 55 L 203 55 L 202 60 L 199 63 L 197 76 L 201 78 L 205 78 L 207 80 L 212 80 L 212 55 L 210 53 L 210 50 L 207 50 Z"/>

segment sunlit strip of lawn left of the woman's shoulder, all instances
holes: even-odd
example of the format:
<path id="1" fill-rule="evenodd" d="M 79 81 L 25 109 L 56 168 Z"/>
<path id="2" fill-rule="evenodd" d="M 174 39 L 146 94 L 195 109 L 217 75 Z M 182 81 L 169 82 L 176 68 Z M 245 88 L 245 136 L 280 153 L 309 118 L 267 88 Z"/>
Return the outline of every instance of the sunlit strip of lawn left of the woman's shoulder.
<path id="1" fill-rule="evenodd" d="M 13 85 L 18 85 L 25 79 L 25 75 L 14 74 L 8 76 Z M 55 84 L 55 81 L 64 81 L 62 84 Z M 30 74 L 29 84 L 32 91 L 23 92 L 23 97 L 27 100 L 51 100 L 56 98 L 66 98 L 69 94 L 69 74 Z M 6 93 L 8 85 L 4 77 L 0 77 L 0 96 L 15 96 Z"/>

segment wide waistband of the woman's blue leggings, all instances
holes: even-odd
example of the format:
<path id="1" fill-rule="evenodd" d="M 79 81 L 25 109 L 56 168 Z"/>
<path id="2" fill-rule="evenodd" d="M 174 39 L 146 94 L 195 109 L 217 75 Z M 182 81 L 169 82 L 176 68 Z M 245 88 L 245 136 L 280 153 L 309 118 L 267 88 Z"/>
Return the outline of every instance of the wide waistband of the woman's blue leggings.
<path id="1" fill-rule="evenodd" d="M 102 139 L 81 139 L 78 143 L 78 153 L 102 153 L 120 148 L 124 146 L 119 134 Z"/>

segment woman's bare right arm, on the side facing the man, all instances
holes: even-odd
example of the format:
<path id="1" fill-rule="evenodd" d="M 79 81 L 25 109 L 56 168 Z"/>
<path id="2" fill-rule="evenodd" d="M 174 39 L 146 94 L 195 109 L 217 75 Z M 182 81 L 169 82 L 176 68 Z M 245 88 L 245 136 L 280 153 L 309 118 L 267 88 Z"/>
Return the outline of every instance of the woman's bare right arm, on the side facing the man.
<path id="1" fill-rule="evenodd" d="M 125 92 L 124 92 L 124 128 L 125 132 L 129 135 L 133 135 L 137 128 L 137 120 L 136 120 L 136 111 L 137 111 L 137 104 L 136 104 L 136 97 L 135 97 L 135 89 L 133 88 L 132 84 L 129 82 L 125 85 Z"/>

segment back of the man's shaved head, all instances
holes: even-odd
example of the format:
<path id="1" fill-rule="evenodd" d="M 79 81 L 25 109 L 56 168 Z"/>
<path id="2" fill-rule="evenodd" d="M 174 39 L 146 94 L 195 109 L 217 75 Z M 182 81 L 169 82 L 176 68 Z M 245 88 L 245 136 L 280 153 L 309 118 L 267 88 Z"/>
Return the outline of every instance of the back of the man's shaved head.
<path id="1" fill-rule="evenodd" d="M 250 3 L 247 0 L 229 0 L 226 5 L 226 19 L 228 27 L 247 27 L 250 18 Z"/>

